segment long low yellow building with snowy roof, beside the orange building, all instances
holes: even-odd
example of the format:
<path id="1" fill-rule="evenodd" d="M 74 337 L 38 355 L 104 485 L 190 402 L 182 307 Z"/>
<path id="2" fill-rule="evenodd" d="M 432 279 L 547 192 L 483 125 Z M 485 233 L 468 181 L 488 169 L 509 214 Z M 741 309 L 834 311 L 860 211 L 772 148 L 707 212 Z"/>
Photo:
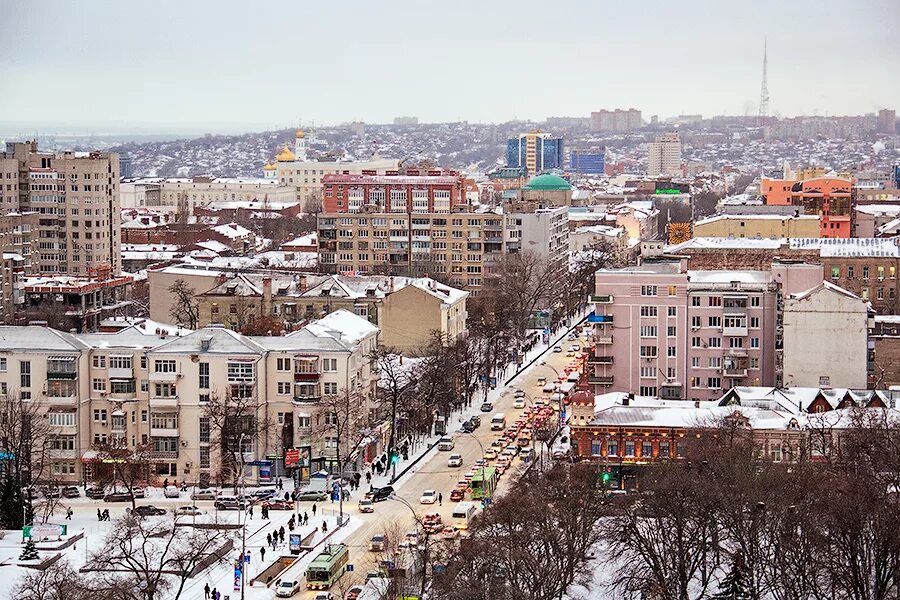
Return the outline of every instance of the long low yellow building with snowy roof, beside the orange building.
<path id="1" fill-rule="evenodd" d="M 821 233 L 814 215 L 715 215 L 694 222 L 697 237 L 816 238 Z"/>

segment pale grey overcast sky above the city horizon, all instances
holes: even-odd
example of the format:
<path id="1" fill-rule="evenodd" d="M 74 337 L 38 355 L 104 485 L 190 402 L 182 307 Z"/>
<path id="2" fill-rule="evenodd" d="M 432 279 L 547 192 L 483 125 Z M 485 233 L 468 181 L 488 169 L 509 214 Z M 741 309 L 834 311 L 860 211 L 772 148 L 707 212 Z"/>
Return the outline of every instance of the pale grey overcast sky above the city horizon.
<path id="1" fill-rule="evenodd" d="M 900 109 L 898 0 L 0 0 L 0 121 L 281 127 Z"/>

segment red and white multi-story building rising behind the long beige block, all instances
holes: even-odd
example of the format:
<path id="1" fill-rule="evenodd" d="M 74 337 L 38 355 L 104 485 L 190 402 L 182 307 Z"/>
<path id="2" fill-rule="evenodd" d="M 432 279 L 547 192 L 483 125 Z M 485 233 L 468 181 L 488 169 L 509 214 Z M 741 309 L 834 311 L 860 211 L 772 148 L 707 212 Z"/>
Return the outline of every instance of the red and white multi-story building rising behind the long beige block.
<path id="1" fill-rule="evenodd" d="M 465 178 L 456 171 L 408 170 L 405 175 L 324 175 L 326 213 L 443 213 L 465 210 Z"/>

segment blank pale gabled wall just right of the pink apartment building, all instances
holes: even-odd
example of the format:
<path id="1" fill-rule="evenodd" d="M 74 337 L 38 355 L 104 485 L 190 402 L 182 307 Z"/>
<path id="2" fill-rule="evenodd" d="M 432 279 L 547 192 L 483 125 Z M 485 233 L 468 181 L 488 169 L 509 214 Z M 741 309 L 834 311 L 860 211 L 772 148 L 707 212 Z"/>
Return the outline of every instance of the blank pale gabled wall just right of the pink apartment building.
<path id="1" fill-rule="evenodd" d="M 784 299 L 783 381 L 786 387 L 865 389 L 874 344 L 869 347 L 869 303 L 823 281 Z M 823 351 L 840 345 L 839 351 Z M 871 365 L 874 367 L 874 365 Z"/>

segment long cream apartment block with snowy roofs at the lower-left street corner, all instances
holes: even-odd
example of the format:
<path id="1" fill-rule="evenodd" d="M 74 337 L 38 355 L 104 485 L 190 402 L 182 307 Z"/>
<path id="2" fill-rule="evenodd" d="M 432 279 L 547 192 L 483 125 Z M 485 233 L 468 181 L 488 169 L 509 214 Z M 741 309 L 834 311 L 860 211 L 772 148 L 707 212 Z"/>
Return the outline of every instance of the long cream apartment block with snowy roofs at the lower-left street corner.
<path id="1" fill-rule="evenodd" d="M 217 432 L 206 411 L 214 397 L 249 398 L 247 418 L 267 424 L 264 435 L 246 440 L 245 461 L 262 461 L 247 467 L 249 477 L 283 473 L 284 450 L 303 447 L 308 476 L 310 465 L 334 466 L 323 396 L 351 393 L 359 418 L 369 422 L 377 375 L 367 357 L 377 339 L 377 327 L 347 311 L 277 338 L 222 327 L 169 336 L 137 327 L 72 335 L 3 326 L 0 395 L 46 407 L 50 472 L 61 481 L 90 481 L 95 447 L 107 442 L 150 444 L 160 477 L 214 480 Z M 358 460 L 374 455 L 382 439 L 371 436 Z"/>

